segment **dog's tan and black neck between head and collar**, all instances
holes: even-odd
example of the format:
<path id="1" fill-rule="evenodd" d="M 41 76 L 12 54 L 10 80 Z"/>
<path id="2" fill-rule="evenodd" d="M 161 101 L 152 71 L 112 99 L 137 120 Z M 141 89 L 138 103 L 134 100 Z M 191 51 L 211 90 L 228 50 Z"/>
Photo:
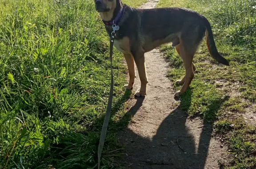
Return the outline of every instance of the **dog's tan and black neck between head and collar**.
<path id="1" fill-rule="evenodd" d="M 121 0 L 116 0 L 116 4 L 113 3 L 112 8 L 108 12 L 100 12 L 101 19 L 104 21 L 114 20 L 118 15 L 120 10 L 123 8 L 123 3 Z"/>

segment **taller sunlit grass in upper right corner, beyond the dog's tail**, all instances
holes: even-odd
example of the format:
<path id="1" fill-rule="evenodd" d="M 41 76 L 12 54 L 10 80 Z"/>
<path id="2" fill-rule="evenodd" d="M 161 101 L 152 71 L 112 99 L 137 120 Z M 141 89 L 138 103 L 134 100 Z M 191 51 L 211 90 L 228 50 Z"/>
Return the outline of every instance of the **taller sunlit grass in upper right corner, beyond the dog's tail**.
<path id="1" fill-rule="evenodd" d="M 216 33 L 232 45 L 256 49 L 256 1 L 210 0 Z M 218 28 L 218 29 L 217 29 Z"/>

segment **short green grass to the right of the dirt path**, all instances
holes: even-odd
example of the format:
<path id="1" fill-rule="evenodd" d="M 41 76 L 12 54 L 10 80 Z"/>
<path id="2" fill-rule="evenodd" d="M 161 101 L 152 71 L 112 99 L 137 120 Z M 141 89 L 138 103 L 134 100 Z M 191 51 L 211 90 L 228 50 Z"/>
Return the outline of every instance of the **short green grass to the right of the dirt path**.
<path id="1" fill-rule="evenodd" d="M 256 111 L 256 1 L 160 0 L 157 4 L 171 6 L 206 16 L 212 23 L 218 50 L 231 64 L 216 64 L 204 41 L 194 58 L 195 78 L 180 97 L 180 109 L 214 123 L 216 134 L 225 140 L 232 155 L 227 163 L 220 163 L 220 168 L 255 169 L 256 128 L 246 124 L 242 114 Z M 170 62 L 170 79 L 181 79 L 185 71 L 180 56 L 169 46 L 161 50 Z"/>

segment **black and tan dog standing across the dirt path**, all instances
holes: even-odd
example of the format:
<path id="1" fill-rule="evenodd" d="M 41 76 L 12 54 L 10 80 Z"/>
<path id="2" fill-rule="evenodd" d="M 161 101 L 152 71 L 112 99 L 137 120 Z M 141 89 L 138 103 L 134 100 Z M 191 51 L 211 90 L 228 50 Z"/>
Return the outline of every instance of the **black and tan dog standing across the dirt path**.
<path id="1" fill-rule="evenodd" d="M 176 92 L 175 97 L 184 93 L 194 78 L 196 67 L 192 59 L 204 36 L 211 56 L 219 63 L 229 65 L 217 51 L 210 23 L 194 11 L 185 8 L 136 9 L 123 4 L 121 0 L 94 2 L 109 36 L 113 31 L 112 25 L 119 26 L 114 46 L 124 54 L 127 62 L 129 90 L 132 90 L 136 77 L 134 62 L 136 63 L 141 82 L 140 91 L 136 96 L 146 95 L 148 78 L 144 53 L 164 43 L 172 43 L 181 56 L 186 70 L 184 78 L 176 81 L 183 86 Z"/>

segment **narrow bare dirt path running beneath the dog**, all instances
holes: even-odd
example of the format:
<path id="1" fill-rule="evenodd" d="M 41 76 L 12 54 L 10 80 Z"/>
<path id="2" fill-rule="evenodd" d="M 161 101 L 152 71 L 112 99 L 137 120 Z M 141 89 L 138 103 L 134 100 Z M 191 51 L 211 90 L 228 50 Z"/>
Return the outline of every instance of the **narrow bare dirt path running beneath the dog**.
<path id="1" fill-rule="evenodd" d="M 154 8 L 149 0 L 140 8 Z M 166 77 L 168 63 L 159 49 L 145 54 L 148 92 L 145 98 L 128 101 L 131 124 L 119 133 L 127 156 L 121 159 L 130 169 L 218 169 L 227 149 L 212 138 L 212 127 L 200 118 L 189 119 L 173 98 L 172 83 Z M 138 74 L 137 74 L 138 75 Z M 136 79 L 134 89 L 139 89 Z"/>

